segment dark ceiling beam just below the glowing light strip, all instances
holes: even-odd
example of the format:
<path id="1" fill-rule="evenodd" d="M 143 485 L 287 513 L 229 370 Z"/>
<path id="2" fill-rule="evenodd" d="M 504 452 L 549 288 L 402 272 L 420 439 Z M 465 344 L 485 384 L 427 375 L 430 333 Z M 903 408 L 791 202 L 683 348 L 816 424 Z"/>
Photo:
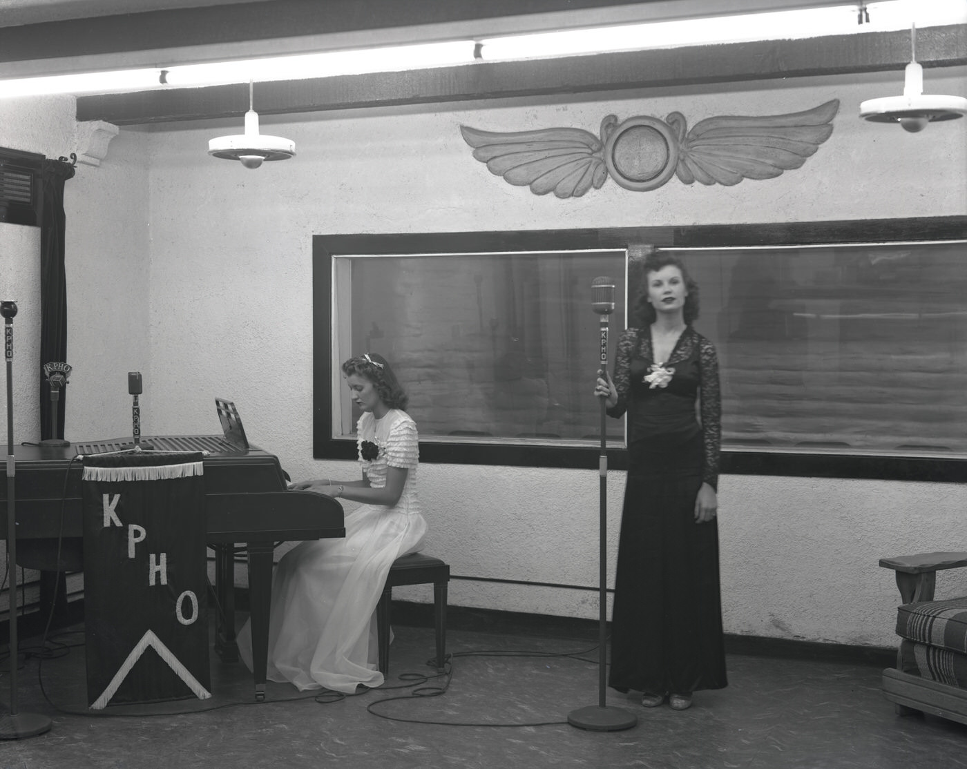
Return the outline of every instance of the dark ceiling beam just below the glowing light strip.
<path id="1" fill-rule="evenodd" d="M 918 30 L 924 68 L 967 65 L 967 24 Z M 592 94 L 695 84 L 902 71 L 910 33 L 701 45 L 527 62 L 477 62 L 432 70 L 257 83 L 261 115 L 406 104 Z M 898 85 L 902 78 L 897 81 Z M 79 97 L 77 120 L 118 126 L 237 117 L 249 85 Z"/>

